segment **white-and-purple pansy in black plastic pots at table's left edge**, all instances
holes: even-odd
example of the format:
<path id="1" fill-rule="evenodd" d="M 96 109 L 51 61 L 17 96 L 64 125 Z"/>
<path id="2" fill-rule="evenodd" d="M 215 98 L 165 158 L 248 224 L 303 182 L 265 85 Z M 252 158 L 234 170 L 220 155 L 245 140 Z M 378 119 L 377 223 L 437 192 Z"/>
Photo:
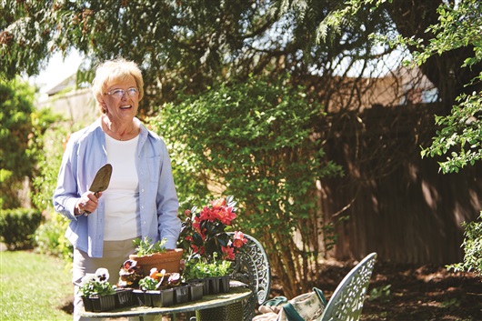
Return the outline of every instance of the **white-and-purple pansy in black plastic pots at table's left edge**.
<path id="1" fill-rule="evenodd" d="M 115 307 L 132 306 L 132 295 L 129 290 L 117 289 L 108 282 L 109 272 L 106 268 L 98 268 L 95 274 L 86 274 L 79 285 L 85 311 L 102 312 Z"/>

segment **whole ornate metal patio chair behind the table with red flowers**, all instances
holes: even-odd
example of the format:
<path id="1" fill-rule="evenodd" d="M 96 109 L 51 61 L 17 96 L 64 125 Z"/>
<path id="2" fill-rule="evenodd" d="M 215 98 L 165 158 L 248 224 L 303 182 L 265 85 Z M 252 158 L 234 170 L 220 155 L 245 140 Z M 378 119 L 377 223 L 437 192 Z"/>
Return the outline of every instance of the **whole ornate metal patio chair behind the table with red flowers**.
<path id="1" fill-rule="evenodd" d="M 239 319 L 241 314 L 244 321 L 251 321 L 255 317 L 256 305 L 266 301 L 271 287 L 271 272 L 266 252 L 256 238 L 246 234 L 245 236 L 246 252 L 236 256 L 231 279 L 238 281 L 239 286 L 249 286 L 253 294 L 244 302 L 196 311 L 197 321 L 231 321 Z"/>

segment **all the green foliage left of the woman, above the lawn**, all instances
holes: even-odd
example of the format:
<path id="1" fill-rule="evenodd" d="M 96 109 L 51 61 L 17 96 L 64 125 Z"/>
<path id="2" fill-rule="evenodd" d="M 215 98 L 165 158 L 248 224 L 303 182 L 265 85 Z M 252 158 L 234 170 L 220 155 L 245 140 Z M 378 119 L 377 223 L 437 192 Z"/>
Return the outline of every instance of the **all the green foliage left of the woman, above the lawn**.
<path id="1" fill-rule="evenodd" d="M 69 262 L 72 246 L 64 236 L 68 221 L 54 212 L 52 194 L 71 125 L 48 108 L 36 109 L 35 87 L 17 78 L 1 79 L 0 95 L 3 241 L 10 249 L 35 245 L 37 251 Z M 32 204 L 26 206 L 33 209 L 17 208 L 25 176 L 31 183 L 32 198 Z"/>

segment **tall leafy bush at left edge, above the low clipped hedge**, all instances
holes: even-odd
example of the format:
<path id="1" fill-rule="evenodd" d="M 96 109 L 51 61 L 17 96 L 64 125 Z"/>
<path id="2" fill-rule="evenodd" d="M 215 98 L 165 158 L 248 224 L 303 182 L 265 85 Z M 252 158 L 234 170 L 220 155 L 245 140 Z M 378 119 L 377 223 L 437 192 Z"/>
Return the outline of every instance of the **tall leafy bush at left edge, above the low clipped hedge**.
<path id="1" fill-rule="evenodd" d="M 39 160 L 44 154 L 45 131 L 59 115 L 49 109 L 35 109 L 35 87 L 15 78 L 0 79 L 0 171 L 2 208 L 20 206 L 18 191 L 25 177 L 29 182 L 43 179 L 39 173 Z M 41 169 L 40 169 L 41 170 Z M 42 188 L 42 184 L 38 185 Z M 45 186 L 46 187 L 46 186 Z M 34 188 L 33 195 L 39 190 Z M 30 206 L 30 205 L 27 205 Z M 45 209 L 45 206 L 38 207 Z"/>

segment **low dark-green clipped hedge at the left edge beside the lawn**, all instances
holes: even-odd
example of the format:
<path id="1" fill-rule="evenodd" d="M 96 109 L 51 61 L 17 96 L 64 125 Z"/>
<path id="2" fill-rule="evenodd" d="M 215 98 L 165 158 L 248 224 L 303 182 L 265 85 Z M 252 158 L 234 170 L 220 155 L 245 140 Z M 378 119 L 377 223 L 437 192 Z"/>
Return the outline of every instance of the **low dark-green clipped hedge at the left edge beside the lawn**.
<path id="1" fill-rule="evenodd" d="M 42 212 L 30 208 L 2 210 L 0 233 L 2 242 L 9 250 L 32 248 L 34 233 L 43 221 Z"/>

